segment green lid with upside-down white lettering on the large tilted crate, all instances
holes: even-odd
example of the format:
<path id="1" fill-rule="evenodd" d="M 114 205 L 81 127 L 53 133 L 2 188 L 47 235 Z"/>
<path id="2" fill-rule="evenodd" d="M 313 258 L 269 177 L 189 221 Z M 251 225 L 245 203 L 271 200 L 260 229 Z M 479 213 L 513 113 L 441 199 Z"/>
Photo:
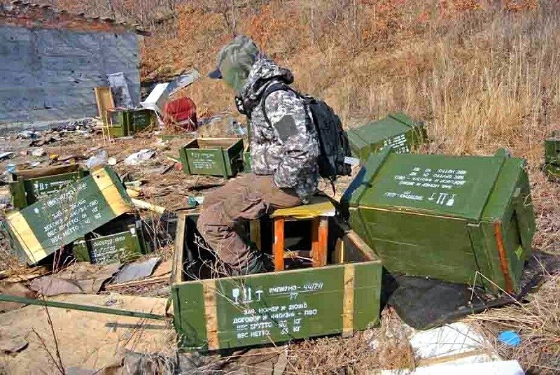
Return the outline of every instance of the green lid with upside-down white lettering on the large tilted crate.
<path id="1" fill-rule="evenodd" d="M 479 220 L 505 160 L 491 157 L 374 154 L 346 190 L 350 206 Z"/>

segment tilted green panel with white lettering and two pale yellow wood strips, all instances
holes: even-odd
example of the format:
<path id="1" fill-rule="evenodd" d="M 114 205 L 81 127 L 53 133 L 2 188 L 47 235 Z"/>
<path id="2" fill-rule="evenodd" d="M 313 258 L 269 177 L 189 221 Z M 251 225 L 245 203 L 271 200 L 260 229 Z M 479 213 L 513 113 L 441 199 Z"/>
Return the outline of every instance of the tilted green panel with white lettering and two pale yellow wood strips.
<path id="1" fill-rule="evenodd" d="M 9 213 L 5 225 L 15 249 L 29 264 L 36 264 L 131 207 L 132 201 L 116 173 L 104 167 L 55 196 Z"/>

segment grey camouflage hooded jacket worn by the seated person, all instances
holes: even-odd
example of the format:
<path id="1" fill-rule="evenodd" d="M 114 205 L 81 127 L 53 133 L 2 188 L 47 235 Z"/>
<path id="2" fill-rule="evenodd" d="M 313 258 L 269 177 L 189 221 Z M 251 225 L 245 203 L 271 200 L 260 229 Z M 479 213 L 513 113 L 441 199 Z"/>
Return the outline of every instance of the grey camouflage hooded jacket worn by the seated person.
<path id="1" fill-rule="evenodd" d="M 251 167 L 254 174 L 274 175 L 278 187 L 293 187 L 302 201 L 315 193 L 318 183 L 319 143 L 297 94 L 279 90 L 268 95 L 262 113 L 261 97 L 269 85 L 293 82 L 292 73 L 259 57 L 240 96 L 251 122 Z"/>

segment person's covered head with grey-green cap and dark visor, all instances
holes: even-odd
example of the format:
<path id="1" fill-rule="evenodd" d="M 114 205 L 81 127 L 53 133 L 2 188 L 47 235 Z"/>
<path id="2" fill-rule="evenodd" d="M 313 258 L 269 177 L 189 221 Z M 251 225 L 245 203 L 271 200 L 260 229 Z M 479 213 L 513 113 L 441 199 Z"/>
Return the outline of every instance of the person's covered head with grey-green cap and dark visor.
<path id="1" fill-rule="evenodd" d="M 221 78 L 236 92 L 240 92 L 259 53 L 251 38 L 236 36 L 218 52 L 218 67 L 208 76 Z"/>

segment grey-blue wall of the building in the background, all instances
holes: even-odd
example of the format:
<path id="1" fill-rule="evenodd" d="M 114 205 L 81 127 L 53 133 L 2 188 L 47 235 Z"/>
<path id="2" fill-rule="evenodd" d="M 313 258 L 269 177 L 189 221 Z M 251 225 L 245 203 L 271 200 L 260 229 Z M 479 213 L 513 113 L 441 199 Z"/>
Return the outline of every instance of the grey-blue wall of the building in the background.
<path id="1" fill-rule="evenodd" d="M 97 115 L 93 87 L 125 73 L 140 101 L 137 34 L 0 25 L 0 123 Z"/>

